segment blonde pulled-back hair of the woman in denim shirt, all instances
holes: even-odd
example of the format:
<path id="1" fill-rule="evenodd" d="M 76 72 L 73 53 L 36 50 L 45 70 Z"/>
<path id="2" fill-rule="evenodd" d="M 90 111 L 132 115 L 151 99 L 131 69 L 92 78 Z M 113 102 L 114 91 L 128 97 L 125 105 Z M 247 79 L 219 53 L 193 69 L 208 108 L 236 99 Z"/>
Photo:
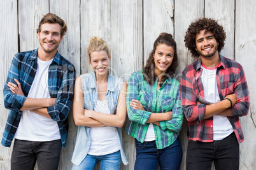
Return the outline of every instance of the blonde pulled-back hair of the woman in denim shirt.
<path id="1" fill-rule="evenodd" d="M 90 44 L 87 48 L 87 54 L 89 56 L 89 60 L 90 60 L 90 54 L 94 51 L 106 51 L 108 58 L 110 58 L 110 49 L 108 48 L 108 44 L 106 43 L 106 41 L 104 41 L 102 38 L 100 37 L 91 37 L 90 38 Z"/>

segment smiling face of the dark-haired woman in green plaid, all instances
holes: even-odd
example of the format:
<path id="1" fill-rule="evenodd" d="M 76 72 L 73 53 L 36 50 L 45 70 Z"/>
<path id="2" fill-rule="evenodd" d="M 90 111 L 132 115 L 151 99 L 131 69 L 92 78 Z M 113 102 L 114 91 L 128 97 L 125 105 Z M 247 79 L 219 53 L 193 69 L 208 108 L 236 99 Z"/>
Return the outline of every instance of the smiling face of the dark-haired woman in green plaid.
<path id="1" fill-rule="evenodd" d="M 155 62 L 155 74 L 165 74 L 174 59 L 174 49 L 166 44 L 159 44 L 153 54 Z"/>

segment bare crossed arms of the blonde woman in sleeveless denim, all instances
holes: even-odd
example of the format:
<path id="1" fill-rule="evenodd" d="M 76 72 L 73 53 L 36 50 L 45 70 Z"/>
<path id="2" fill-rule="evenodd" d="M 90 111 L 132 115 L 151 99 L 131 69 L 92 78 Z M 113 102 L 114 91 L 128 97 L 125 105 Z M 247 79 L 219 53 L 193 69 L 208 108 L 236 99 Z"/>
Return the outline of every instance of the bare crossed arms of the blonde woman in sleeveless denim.
<path id="1" fill-rule="evenodd" d="M 120 91 L 117 104 L 117 114 L 103 114 L 94 110 L 83 108 L 83 91 L 81 77 L 78 76 L 75 82 L 75 96 L 73 101 L 73 116 L 76 126 L 102 127 L 113 126 L 121 128 L 126 117 L 126 98 L 127 84 L 124 81 Z"/>

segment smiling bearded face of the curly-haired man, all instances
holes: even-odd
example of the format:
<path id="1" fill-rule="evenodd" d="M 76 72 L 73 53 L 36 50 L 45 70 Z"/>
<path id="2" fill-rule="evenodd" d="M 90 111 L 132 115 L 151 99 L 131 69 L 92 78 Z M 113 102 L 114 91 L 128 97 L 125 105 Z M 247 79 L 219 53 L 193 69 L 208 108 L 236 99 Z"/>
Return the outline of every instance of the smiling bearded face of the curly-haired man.
<path id="1" fill-rule="evenodd" d="M 200 30 L 196 34 L 196 50 L 204 58 L 218 56 L 218 42 L 210 31 Z"/>

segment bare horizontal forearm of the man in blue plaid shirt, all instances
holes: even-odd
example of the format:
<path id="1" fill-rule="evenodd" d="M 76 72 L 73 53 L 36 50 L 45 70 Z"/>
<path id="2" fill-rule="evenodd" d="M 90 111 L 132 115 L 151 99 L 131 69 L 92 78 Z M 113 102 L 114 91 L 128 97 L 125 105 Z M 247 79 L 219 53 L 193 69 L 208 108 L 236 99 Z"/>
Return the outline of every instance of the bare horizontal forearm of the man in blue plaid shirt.
<path id="1" fill-rule="evenodd" d="M 34 110 L 37 108 L 51 107 L 53 105 L 56 105 L 55 98 L 26 98 L 20 110 Z"/>

